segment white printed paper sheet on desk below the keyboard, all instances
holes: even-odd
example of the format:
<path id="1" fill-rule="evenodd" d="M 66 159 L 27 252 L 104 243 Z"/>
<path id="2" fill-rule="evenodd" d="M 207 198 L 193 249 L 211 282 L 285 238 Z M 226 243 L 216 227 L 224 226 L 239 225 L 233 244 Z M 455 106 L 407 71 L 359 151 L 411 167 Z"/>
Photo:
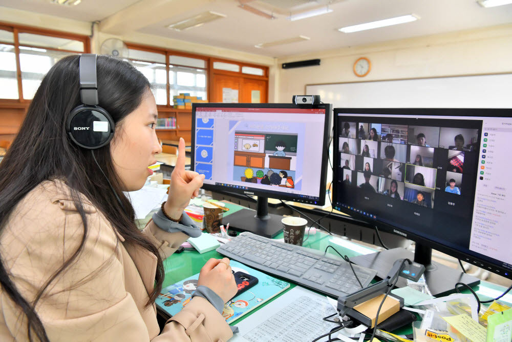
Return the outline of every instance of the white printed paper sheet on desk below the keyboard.
<path id="1" fill-rule="evenodd" d="M 237 324 L 230 341 L 310 342 L 338 326 L 322 320 L 334 313 L 326 297 L 297 286 Z"/>

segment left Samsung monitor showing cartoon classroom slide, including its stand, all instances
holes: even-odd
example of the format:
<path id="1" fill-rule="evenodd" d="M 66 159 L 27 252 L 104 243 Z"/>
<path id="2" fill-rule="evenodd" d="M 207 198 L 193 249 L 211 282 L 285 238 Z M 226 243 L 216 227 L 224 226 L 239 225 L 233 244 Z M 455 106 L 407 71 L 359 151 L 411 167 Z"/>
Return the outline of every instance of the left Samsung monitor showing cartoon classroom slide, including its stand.
<path id="1" fill-rule="evenodd" d="M 203 188 L 258 196 L 257 213 L 229 214 L 229 228 L 274 237 L 282 217 L 267 198 L 323 205 L 332 106 L 193 104 L 191 169 Z"/>

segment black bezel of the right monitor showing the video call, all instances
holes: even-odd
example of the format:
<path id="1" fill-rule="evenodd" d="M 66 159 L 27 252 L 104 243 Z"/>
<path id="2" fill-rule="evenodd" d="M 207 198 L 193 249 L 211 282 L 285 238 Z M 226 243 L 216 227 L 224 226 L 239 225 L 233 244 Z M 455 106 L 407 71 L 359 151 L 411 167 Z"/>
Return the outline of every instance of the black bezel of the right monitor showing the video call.
<path id="1" fill-rule="evenodd" d="M 451 255 L 469 264 L 478 266 L 490 272 L 499 274 L 505 278 L 512 279 L 512 270 L 506 269 L 487 259 L 479 256 L 465 253 L 464 251 L 451 248 L 435 242 L 429 238 L 417 235 L 406 229 L 398 228 L 387 223 L 379 222 L 376 219 L 370 219 L 364 214 L 359 214 L 349 209 L 344 209 L 338 206 L 337 187 L 339 186 L 334 179 L 338 179 L 339 164 L 339 146 L 335 143 L 338 132 L 338 114 L 369 114 L 369 115 L 417 115 L 417 116 L 476 116 L 476 117 L 512 117 L 512 109 L 505 108 L 334 108 L 333 110 L 333 185 L 332 185 L 332 205 L 336 210 L 348 214 L 349 216 L 360 219 L 370 225 L 371 227 L 378 227 L 379 230 L 393 233 L 399 236 L 406 237 L 414 242 L 426 245 L 432 249 L 438 250 L 442 253 Z M 475 252 L 480 254 L 478 252 Z M 483 254 L 480 254 L 483 255 Z M 485 256 L 485 255 L 483 255 Z"/>

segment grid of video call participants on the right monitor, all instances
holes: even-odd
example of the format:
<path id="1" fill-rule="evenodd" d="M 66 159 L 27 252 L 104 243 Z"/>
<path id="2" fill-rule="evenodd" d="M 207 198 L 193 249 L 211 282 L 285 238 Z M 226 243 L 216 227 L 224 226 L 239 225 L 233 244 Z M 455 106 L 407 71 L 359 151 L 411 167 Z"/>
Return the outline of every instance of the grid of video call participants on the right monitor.
<path id="1" fill-rule="evenodd" d="M 343 183 L 337 205 L 360 207 L 366 216 L 401 222 L 419 234 L 432 227 L 438 212 L 471 229 L 481 120 L 349 115 L 335 118 L 336 181 Z M 454 245 L 469 245 L 469 232 L 456 235 L 465 237 Z"/>

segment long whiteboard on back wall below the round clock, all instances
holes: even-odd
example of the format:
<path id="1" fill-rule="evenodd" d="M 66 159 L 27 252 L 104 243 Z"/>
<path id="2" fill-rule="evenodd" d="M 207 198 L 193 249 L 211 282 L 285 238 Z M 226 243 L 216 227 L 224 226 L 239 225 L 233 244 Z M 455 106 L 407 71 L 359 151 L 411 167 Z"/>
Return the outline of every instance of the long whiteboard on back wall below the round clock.
<path id="1" fill-rule="evenodd" d="M 512 73 L 306 85 L 333 108 L 512 108 Z"/>

